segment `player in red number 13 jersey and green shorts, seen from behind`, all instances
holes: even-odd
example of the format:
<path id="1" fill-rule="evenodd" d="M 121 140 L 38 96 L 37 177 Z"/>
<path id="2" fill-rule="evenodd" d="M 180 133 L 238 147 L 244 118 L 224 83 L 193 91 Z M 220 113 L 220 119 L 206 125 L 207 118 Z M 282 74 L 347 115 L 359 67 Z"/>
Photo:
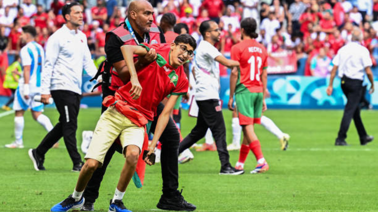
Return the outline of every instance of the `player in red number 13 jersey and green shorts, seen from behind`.
<path id="1" fill-rule="evenodd" d="M 243 169 L 249 150 L 257 160 L 256 168 L 251 174 L 268 171 L 269 166 L 261 151 L 260 141 L 254 132 L 254 124 L 261 123 L 261 114 L 266 110 L 266 68 L 268 68 L 268 54 L 263 45 L 255 38 L 256 21 L 245 18 L 240 23 L 243 41 L 231 48 L 231 59 L 239 61 L 240 69 L 232 71 L 230 77 L 230 99 L 228 108 L 234 110 L 232 104 L 237 105 L 239 123 L 243 128 L 243 144 L 240 148 L 239 161 L 236 169 Z"/>

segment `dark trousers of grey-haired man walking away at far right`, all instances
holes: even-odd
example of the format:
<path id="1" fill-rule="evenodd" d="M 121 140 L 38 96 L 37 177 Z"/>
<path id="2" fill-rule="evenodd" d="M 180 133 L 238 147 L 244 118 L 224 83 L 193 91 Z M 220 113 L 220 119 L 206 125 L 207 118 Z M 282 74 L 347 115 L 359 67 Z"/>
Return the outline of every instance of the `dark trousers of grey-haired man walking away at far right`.
<path id="1" fill-rule="evenodd" d="M 347 131 L 349 129 L 352 118 L 357 128 L 358 135 L 361 139 L 367 135 L 364 124 L 361 120 L 361 110 L 359 108 L 359 103 L 363 93 L 362 81 L 343 77 L 341 89 L 347 97 L 347 104 L 344 108 L 344 115 L 342 116 L 337 139 L 345 140 L 345 138 L 347 138 Z"/>

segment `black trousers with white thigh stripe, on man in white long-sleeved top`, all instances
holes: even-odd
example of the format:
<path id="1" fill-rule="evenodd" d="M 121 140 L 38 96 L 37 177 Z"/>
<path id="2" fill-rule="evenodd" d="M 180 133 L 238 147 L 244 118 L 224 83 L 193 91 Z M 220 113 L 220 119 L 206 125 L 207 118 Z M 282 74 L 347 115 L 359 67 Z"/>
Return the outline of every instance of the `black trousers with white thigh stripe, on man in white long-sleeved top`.
<path id="1" fill-rule="evenodd" d="M 59 122 L 54 128 L 43 138 L 37 147 L 37 153 L 44 157 L 46 152 L 60 138 L 64 138 L 64 144 L 67 147 L 68 154 L 74 165 L 82 162 L 81 156 L 77 151 L 76 145 L 76 129 L 77 115 L 79 115 L 81 95 L 72 91 L 56 90 L 51 91 L 56 108 L 59 112 Z"/>

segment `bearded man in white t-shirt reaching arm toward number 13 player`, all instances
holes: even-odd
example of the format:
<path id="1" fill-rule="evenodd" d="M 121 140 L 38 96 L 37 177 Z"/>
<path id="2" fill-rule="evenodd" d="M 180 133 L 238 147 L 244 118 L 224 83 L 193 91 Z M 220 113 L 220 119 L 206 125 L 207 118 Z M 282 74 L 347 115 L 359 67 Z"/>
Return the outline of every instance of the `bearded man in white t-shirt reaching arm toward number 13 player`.
<path id="1" fill-rule="evenodd" d="M 210 128 L 221 162 L 219 174 L 239 175 L 244 171 L 237 170 L 229 162 L 226 144 L 226 127 L 223 120 L 222 105 L 219 105 L 219 63 L 227 67 L 239 66 L 239 62 L 225 58 L 214 44 L 220 40 L 219 26 L 212 20 L 200 25 L 203 40 L 197 47 L 194 58 L 195 100 L 198 105 L 197 124 L 191 133 L 181 141 L 179 154 L 203 138 Z"/>

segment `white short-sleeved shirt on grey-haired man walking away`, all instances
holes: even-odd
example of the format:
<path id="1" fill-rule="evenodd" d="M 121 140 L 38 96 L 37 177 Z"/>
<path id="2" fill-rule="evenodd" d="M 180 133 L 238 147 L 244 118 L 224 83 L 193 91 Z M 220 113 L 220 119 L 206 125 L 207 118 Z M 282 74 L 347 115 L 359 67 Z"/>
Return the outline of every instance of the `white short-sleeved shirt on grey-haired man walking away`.
<path id="1" fill-rule="evenodd" d="M 357 42 L 350 42 L 337 52 L 332 60 L 333 65 L 338 66 L 339 77 L 364 80 L 364 70 L 372 66 L 369 50 Z"/>

